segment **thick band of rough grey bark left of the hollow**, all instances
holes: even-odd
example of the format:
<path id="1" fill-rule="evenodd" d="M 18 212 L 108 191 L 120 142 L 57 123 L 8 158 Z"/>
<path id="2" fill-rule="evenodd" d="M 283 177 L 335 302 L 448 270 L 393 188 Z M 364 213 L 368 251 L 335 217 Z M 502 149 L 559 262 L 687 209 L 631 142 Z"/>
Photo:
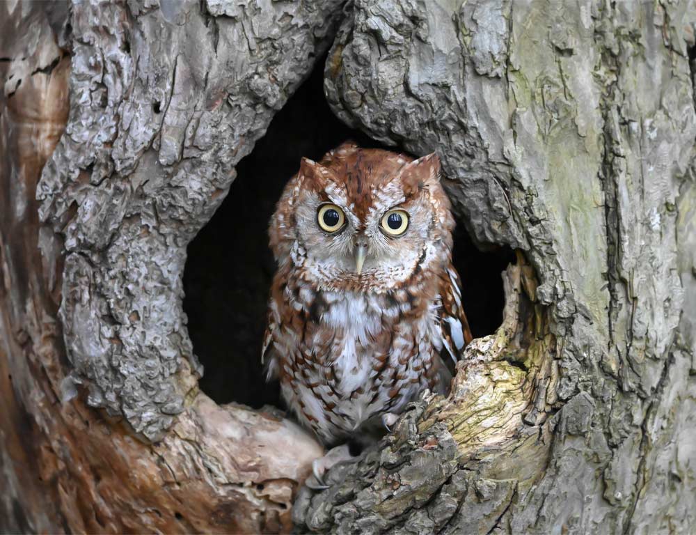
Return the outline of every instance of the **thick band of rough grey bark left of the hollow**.
<path id="1" fill-rule="evenodd" d="M 184 410 L 187 370 L 200 374 L 181 306 L 187 243 L 329 46 L 340 4 L 72 6 L 70 119 L 40 215 L 68 251 L 73 380 L 148 440 Z"/>

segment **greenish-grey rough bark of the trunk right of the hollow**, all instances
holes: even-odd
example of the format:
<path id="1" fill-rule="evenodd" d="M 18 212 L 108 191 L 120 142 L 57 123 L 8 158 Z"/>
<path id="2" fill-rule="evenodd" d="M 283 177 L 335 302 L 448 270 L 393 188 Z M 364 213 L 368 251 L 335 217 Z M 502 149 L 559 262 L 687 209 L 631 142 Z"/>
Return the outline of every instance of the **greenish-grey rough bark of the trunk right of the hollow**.
<path id="1" fill-rule="evenodd" d="M 535 268 L 536 334 L 493 362 L 475 344 L 450 398 L 303 496 L 298 522 L 696 529 L 695 21 L 690 2 L 354 2 L 326 65 L 333 109 L 438 151 L 475 237 Z"/>

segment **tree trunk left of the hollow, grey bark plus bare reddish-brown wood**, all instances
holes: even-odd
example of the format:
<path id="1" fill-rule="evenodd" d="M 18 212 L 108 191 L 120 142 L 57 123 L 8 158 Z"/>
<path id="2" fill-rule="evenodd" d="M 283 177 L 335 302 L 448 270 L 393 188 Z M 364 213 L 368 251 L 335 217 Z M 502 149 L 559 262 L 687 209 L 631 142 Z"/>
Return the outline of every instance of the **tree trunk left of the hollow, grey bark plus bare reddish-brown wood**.
<path id="1" fill-rule="evenodd" d="M 143 5 L 0 6 L 0 532 L 287 532 L 322 448 L 198 392 L 181 272 L 340 4 Z"/>

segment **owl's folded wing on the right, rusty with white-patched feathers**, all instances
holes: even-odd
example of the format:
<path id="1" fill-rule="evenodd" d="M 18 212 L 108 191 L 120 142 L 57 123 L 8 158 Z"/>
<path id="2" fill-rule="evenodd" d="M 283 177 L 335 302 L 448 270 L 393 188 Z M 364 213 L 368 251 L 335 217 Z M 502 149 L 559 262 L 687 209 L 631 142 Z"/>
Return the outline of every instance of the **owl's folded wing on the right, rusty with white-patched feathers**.
<path id="1" fill-rule="evenodd" d="M 459 274 L 453 265 L 450 264 L 450 267 L 441 274 L 439 286 L 441 307 L 438 316 L 442 343 L 452 360 L 457 362 L 461 351 L 473 339 L 473 336 L 466 320 L 464 307 L 461 306 Z"/>

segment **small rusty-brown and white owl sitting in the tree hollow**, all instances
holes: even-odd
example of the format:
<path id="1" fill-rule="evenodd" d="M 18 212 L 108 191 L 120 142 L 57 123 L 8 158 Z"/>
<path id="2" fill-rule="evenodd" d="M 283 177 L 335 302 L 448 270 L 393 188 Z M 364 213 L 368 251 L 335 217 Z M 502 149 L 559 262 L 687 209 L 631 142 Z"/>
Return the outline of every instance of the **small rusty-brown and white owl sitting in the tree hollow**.
<path id="1" fill-rule="evenodd" d="M 303 158 L 269 229 L 278 271 L 263 357 L 301 424 L 354 438 L 421 391 L 445 393 L 471 334 L 434 154 L 346 143 Z"/>

